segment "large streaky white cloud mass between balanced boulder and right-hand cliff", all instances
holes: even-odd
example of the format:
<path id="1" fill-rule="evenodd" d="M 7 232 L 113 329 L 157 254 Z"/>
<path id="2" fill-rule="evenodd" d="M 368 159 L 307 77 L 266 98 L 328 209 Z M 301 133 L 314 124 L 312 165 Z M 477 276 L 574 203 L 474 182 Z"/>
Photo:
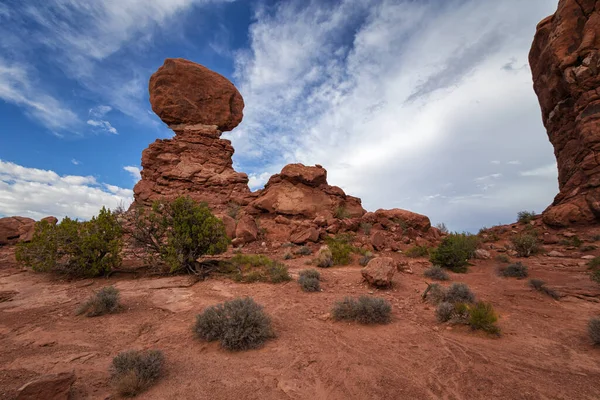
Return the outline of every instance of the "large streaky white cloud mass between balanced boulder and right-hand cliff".
<path id="1" fill-rule="evenodd" d="M 250 176 L 319 163 L 367 209 L 407 208 L 451 228 L 511 222 L 515 199 L 539 209 L 555 182 L 524 185 L 514 162 L 497 160 L 526 169 L 554 159 L 521 66 L 537 22 L 555 9 L 554 0 L 260 9 L 250 50 L 236 56 L 246 108 L 227 135 L 235 161 Z"/>

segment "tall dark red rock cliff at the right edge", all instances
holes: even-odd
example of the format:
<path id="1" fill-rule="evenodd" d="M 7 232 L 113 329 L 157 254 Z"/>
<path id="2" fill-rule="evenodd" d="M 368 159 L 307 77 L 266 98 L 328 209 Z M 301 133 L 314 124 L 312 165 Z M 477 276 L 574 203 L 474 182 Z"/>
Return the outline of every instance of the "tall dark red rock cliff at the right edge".
<path id="1" fill-rule="evenodd" d="M 560 0 L 537 26 L 529 64 L 558 164 L 548 225 L 600 219 L 600 1 Z"/>

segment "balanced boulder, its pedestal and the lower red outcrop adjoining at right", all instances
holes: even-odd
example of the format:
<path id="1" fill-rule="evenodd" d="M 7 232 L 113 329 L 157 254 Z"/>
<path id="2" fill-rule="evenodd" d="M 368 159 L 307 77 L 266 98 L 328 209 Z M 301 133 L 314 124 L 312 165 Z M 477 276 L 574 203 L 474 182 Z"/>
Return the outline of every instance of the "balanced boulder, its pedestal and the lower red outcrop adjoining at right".
<path id="1" fill-rule="evenodd" d="M 259 238 L 317 242 L 328 234 L 356 232 L 361 224 L 373 226 L 374 247 L 382 249 L 404 234 L 414 240 L 436 236 L 429 219 L 419 214 L 366 213 L 360 199 L 327 183 L 320 165 L 287 165 L 252 193 L 248 176 L 233 169 L 231 143 L 220 138 L 222 130 L 241 122 L 244 106 L 235 86 L 221 75 L 190 61 L 167 59 L 150 78 L 149 90 L 152 109 L 175 137 L 144 150 L 134 206 L 181 195 L 204 201 L 223 218 L 234 244 Z"/>

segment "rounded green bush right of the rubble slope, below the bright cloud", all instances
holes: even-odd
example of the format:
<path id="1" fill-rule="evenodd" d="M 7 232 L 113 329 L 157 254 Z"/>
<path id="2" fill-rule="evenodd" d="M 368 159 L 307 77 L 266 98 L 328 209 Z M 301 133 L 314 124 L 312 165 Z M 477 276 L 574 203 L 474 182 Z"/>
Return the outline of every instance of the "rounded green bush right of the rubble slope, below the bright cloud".
<path id="1" fill-rule="evenodd" d="M 430 261 L 454 272 L 466 272 L 478 245 L 479 240 L 475 235 L 451 233 L 431 252 Z"/>

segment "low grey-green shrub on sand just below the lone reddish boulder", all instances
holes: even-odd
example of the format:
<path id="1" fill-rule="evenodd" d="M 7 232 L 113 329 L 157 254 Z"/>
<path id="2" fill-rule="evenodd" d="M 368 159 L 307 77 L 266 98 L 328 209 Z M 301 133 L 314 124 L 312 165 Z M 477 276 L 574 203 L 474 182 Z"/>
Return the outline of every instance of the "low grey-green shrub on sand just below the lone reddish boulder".
<path id="1" fill-rule="evenodd" d="M 331 315 L 335 320 L 356 321 L 361 324 L 387 324 L 391 320 L 391 304 L 379 297 L 346 297 L 334 304 Z"/>

